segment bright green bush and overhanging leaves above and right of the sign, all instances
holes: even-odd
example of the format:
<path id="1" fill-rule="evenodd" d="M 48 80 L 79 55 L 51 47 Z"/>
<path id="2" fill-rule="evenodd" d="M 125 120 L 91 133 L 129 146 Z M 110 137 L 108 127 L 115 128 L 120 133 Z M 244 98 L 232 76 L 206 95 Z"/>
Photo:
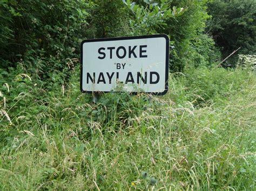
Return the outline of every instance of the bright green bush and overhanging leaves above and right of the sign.
<path id="1" fill-rule="evenodd" d="M 204 34 L 206 1 L 126 1 L 130 14 L 130 34 L 169 34 L 170 69 L 185 66 L 211 66 L 219 60 L 219 51 L 210 36 Z"/>

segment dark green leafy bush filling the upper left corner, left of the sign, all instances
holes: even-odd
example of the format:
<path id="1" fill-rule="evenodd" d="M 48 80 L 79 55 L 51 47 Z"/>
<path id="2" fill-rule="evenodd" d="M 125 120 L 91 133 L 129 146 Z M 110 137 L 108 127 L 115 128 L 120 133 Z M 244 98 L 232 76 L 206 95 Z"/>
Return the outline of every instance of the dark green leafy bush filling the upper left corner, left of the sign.
<path id="1" fill-rule="evenodd" d="M 84 1 L 1 1 L 1 67 L 15 67 L 22 59 L 26 68 L 38 67 L 37 58 L 56 56 L 60 61 L 77 57 L 84 38 Z M 11 50 L 11 51 L 10 51 Z M 63 65 L 41 65 L 43 72 Z M 56 62 L 59 63 L 59 62 Z"/>

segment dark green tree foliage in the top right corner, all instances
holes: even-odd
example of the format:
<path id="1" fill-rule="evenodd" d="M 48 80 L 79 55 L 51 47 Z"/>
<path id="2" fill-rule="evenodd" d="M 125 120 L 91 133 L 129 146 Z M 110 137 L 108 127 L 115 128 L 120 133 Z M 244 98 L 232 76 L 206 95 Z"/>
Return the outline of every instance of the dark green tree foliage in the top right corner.
<path id="1" fill-rule="evenodd" d="M 241 47 L 240 54 L 254 54 L 256 51 L 256 2 L 247 1 L 212 1 L 208 4 L 212 18 L 207 23 L 207 31 L 226 57 Z M 238 56 L 232 56 L 234 66 Z M 232 63 L 233 62 L 233 63 Z"/>

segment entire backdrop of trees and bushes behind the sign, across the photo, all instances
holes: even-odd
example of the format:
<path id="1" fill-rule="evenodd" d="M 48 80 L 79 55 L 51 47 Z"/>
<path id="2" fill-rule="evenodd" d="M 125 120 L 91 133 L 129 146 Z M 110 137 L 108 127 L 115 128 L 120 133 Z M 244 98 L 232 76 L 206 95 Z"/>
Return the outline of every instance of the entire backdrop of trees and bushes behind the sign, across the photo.
<path id="1" fill-rule="evenodd" d="M 213 1 L 205 32 L 207 0 L 3 0 L 0 1 L 1 68 L 22 65 L 47 79 L 79 59 L 83 39 L 165 33 L 170 37 L 170 69 L 212 66 L 217 44 L 228 54 L 242 46 L 255 52 L 255 3 Z M 232 35 L 230 33 L 232 32 Z M 224 54 L 224 55 L 225 55 Z"/>

